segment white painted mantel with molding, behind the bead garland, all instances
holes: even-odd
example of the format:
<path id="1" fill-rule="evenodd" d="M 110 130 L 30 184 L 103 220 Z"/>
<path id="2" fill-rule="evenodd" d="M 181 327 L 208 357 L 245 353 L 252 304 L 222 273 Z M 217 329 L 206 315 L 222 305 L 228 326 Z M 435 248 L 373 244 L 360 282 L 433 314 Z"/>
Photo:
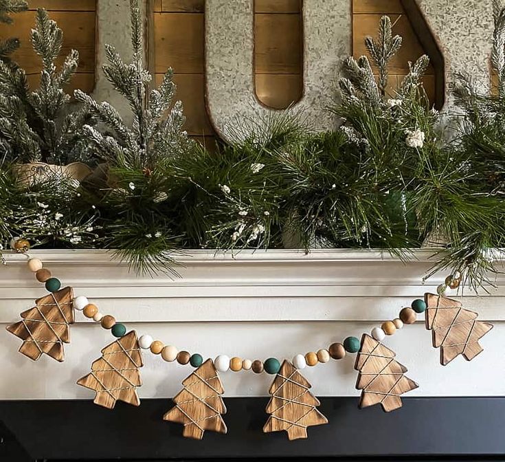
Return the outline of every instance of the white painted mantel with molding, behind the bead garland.
<path id="1" fill-rule="evenodd" d="M 137 276 L 100 250 L 34 250 L 63 285 L 87 296 L 100 311 L 113 314 L 129 329 L 150 333 L 179 349 L 213 357 L 218 353 L 265 359 L 291 358 L 317 351 L 346 336 L 361 336 L 374 325 L 397 316 L 413 298 L 436 291 L 446 274 L 426 283 L 434 250 L 415 250 L 404 263 L 382 250 L 258 250 L 223 253 L 197 250 L 181 254 L 180 278 L 160 274 Z M 110 333 L 78 315 L 71 327 L 66 360 L 33 363 L 16 350 L 20 341 L 5 331 L 19 313 L 45 293 L 26 268 L 27 256 L 6 253 L 0 266 L 0 399 L 87 398 L 89 391 L 74 385 L 89 371 Z M 505 261 L 505 259 L 504 259 Z M 495 323 L 482 339 L 484 353 L 473 362 L 457 358 L 438 364 L 431 333 L 423 320 L 406 327 L 385 344 L 396 351 L 421 384 L 411 395 L 501 395 L 505 364 L 505 277 L 497 276 L 491 296 L 465 292 L 465 307 L 480 319 Z M 170 397 L 177 393 L 188 366 L 167 364 L 144 355 L 141 397 Z M 3 374 L 2 374 L 3 375 Z M 353 358 L 304 370 L 318 395 L 358 395 L 354 390 Z M 228 396 L 265 395 L 271 377 L 226 373 Z M 503 389 L 502 389 L 503 388 Z"/>

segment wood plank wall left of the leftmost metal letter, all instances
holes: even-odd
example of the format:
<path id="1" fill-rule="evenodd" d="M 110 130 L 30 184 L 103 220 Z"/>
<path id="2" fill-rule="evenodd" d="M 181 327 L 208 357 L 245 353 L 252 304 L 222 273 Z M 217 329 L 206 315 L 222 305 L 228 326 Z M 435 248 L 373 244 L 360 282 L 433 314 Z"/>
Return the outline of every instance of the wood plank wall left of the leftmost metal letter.
<path id="1" fill-rule="evenodd" d="M 29 11 L 14 14 L 12 25 L 1 26 L 0 39 L 16 36 L 21 40 L 21 47 L 12 58 L 26 70 L 30 85 L 38 85 L 41 71 L 41 60 L 32 49 L 30 33 L 35 27 L 36 9 L 45 8 L 63 30 L 58 65 L 72 48 L 80 54 L 78 72 L 67 91 L 80 88 L 91 93 L 95 87 L 96 0 L 29 0 L 28 3 Z"/>

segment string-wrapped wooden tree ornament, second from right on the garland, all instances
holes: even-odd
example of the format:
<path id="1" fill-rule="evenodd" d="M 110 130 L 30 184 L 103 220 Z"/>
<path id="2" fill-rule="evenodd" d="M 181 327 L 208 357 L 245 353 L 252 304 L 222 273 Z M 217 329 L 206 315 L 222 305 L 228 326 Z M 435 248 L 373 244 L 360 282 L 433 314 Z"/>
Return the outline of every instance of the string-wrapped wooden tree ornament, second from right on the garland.
<path id="1" fill-rule="evenodd" d="M 403 375 L 407 369 L 395 356 L 394 351 L 363 334 L 355 363 L 359 371 L 356 388 L 362 390 L 360 408 L 381 404 L 385 412 L 390 412 L 401 408 L 403 393 L 418 388 L 416 382 Z"/>

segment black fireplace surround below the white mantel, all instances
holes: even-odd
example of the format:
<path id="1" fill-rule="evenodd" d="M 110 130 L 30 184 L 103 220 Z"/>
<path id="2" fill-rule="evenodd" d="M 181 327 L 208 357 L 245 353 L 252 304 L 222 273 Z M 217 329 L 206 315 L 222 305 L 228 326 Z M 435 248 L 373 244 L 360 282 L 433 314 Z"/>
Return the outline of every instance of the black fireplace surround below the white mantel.
<path id="1" fill-rule="evenodd" d="M 505 461 L 505 398 L 405 398 L 387 414 L 357 398 L 324 397 L 329 423 L 308 439 L 262 433 L 268 398 L 225 399 L 227 434 L 185 439 L 161 417 L 170 399 L 0 401 L 0 461 Z"/>

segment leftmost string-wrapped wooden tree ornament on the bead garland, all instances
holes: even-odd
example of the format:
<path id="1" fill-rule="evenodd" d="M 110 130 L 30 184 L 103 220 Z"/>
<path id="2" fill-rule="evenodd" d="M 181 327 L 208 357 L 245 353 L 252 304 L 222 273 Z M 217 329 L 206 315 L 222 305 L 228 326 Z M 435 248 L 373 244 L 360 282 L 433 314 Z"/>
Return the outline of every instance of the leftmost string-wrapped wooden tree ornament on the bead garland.
<path id="1" fill-rule="evenodd" d="M 23 340 L 20 353 L 36 361 L 45 353 L 56 361 L 65 359 L 64 343 L 70 342 L 69 325 L 74 324 L 74 294 L 71 287 L 38 298 L 33 308 L 23 311 L 23 320 L 7 330 Z"/>

